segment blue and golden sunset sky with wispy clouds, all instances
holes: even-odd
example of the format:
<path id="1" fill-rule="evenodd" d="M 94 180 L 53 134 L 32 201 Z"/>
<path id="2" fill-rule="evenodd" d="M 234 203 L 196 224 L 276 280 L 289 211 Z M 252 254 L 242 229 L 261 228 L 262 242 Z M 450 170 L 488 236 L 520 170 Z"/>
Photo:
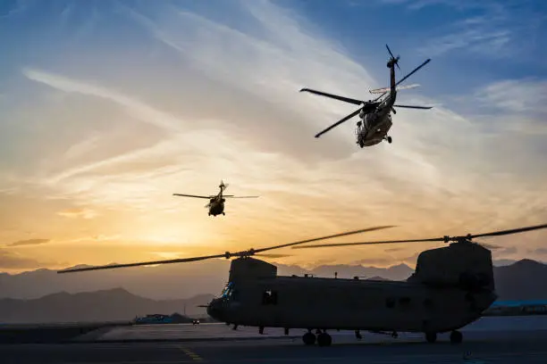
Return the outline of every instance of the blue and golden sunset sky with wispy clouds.
<path id="1" fill-rule="evenodd" d="M 547 3 L 491 0 L 0 3 L 0 271 L 547 222 Z M 359 99 L 406 84 L 391 145 L 360 149 Z M 257 194 L 207 216 L 205 200 Z M 338 240 L 342 241 L 342 240 Z M 334 242 L 334 241 L 333 241 Z M 547 231 L 484 240 L 547 260 Z M 441 244 L 283 250 L 387 266 Z M 274 261 L 274 260 L 271 260 Z"/>

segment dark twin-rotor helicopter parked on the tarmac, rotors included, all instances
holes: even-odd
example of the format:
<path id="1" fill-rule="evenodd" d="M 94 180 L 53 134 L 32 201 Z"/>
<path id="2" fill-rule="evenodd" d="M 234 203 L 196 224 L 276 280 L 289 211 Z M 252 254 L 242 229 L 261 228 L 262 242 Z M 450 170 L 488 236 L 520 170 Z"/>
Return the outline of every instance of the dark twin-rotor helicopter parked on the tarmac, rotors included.
<path id="1" fill-rule="evenodd" d="M 400 332 L 424 333 L 429 343 L 437 334 L 451 332 L 450 342 L 461 343 L 458 331 L 482 316 L 497 298 L 492 253 L 472 240 L 484 236 L 504 236 L 547 228 L 547 224 L 467 236 L 442 236 L 417 240 L 391 240 L 365 243 L 307 243 L 338 236 L 350 236 L 393 226 L 369 227 L 332 236 L 307 239 L 242 252 L 225 252 L 201 257 L 168 261 L 146 261 L 79 269 L 86 270 L 236 258 L 231 261 L 229 280 L 220 297 L 206 305 L 209 316 L 227 325 L 305 329 L 302 340 L 307 345 L 328 346 L 332 337 L 327 330 L 353 330 L 358 339 L 361 330 L 397 337 Z M 262 252 L 293 249 L 349 246 L 359 244 L 407 244 L 444 242 L 449 246 L 421 252 L 417 266 L 406 281 L 361 280 L 358 277 L 327 278 L 278 276 L 277 267 L 251 258 Z M 312 330 L 316 330 L 316 334 Z"/>

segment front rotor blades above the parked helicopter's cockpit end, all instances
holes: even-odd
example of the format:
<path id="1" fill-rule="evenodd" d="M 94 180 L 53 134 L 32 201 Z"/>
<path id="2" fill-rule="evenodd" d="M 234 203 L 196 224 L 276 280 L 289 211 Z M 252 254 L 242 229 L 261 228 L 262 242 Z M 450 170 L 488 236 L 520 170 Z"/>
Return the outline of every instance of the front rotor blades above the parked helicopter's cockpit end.
<path id="1" fill-rule="evenodd" d="M 82 272 L 82 271 L 88 271 L 88 270 L 117 269 L 117 268 L 150 266 L 150 265 L 156 265 L 156 264 L 185 263 L 185 262 L 190 262 L 190 261 L 206 261 L 206 260 L 209 260 L 209 259 L 216 259 L 216 258 L 230 259 L 232 257 L 251 256 L 251 255 L 255 255 L 258 252 L 266 252 L 266 251 L 270 251 L 270 250 L 273 250 L 273 249 L 284 248 L 284 247 L 287 247 L 287 246 L 305 244 L 305 243 L 310 243 L 310 242 L 316 242 L 316 241 L 319 241 L 319 240 L 330 239 L 332 237 L 362 234 L 362 233 L 366 233 L 368 231 L 374 231 L 374 230 L 379 230 L 379 229 L 389 228 L 389 227 L 394 227 L 394 226 L 367 227 L 367 228 L 364 228 L 364 229 L 359 229 L 359 230 L 354 230 L 354 231 L 347 231 L 347 232 L 340 233 L 340 234 L 334 234 L 332 236 L 322 236 L 322 237 L 316 237 L 316 238 L 312 238 L 312 239 L 302 240 L 302 241 L 295 242 L 295 243 L 273 245 L 273 246 L 269 246 L 269 247 L 261 248 L 261 249 L 257 249 L 257 250 L 251 248 L 247 251 L 224 252 L 223 254 L 204 255 L 204 256 L 192 257 L 192 258 L 179 258 L 179 259 L 172 259 L 172 260 L 165 260 L 165 261 L 140 261 L 140 262 L 136 262 L 136 263 L 109 264 L 109 265 L 105 265 L 105 266 L 96 266 L 96 267 L 63 269 L 63 270 L 58 270 L 57 274 Z"/>

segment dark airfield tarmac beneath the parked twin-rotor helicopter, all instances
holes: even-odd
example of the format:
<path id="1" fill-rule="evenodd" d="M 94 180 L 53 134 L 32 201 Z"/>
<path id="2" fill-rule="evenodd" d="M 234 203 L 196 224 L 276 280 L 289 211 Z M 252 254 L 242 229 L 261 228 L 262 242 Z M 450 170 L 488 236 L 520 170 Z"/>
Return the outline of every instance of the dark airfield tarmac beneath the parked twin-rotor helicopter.
<path id="1" fill-rule="evenodd" d="M 1 362 L 12 363 L 545 363 L 547 317 L 483 318 L 463 328 L 464 343 L 450 344 L 448 335 L 425 343 L 423 335 L 331 332 L 331 347 L 307 347 L 301 330 L 289 336 L 282 329 L 223 324 L 116 327 L 80 336 L 73 343 L 2 344 Z M 151 341 L 152 340 L 152 341 Z M 466 352 L 470 355 L 465 358 Z"/>

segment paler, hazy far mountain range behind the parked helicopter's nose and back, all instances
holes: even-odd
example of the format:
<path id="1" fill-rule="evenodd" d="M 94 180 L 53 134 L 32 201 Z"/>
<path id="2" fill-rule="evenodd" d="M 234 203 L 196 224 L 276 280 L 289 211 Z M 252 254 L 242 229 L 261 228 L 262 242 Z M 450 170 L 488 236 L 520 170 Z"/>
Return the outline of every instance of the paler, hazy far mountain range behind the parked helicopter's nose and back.
<path id="1" fill-rule="evenodd" d="M 307 270 L 299 266 L 277 264 L 280 275 L 312 273 L 317 277 L 384 277 L 406 279 L 413 269 L 405 264 L 390 268 L 361 265 L 324 265 Z M 82 267 L 82 266 L 79 266 Z M 38 269 L 21 274 L 0 273 L 0 299 L 33 299 L 46 294 L 93 292 L 122 287 L 132 294 L 154 300 L 173 300 L 197 294 L 220 294 L 226 285 L 230 261 L 211 260 L 156 267 L 96 270 L 74 274 L 57 274 Z"/>

